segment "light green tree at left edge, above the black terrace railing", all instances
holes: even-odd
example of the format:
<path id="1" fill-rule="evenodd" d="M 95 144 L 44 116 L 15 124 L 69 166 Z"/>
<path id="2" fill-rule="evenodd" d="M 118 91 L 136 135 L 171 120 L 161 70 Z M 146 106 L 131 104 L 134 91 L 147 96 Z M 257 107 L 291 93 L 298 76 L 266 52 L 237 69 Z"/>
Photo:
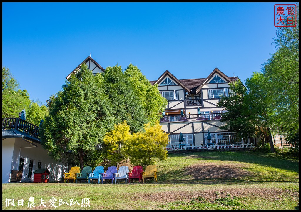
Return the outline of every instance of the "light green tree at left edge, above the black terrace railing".
<path id="1" fill-rule="evenodd" d="M 2 67 L 2 118 L 17 118 L 30 104 L 27 90 L 20 90 L 8 68 Z"/>

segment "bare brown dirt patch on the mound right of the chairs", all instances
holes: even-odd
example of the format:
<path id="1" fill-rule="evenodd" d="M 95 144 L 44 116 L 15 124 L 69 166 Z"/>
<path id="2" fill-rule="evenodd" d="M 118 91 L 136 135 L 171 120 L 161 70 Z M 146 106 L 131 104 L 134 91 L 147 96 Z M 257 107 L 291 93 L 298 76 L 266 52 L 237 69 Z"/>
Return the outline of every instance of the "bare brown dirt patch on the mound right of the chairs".
<path id="1" fill-rule="evenodd" d="M 239 179 L 251 175 L 238 164 L 216 165 L 215 163 L 194 164 L 185 169 L 185 175 L 194 179 Z"/>

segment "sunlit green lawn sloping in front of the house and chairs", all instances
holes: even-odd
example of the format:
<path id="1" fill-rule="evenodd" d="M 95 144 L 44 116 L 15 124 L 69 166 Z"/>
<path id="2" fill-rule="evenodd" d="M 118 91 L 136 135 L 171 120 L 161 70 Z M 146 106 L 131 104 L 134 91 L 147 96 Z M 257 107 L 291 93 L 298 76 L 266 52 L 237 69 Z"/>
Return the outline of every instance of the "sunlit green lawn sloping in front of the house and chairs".
<path id="1" fill-rule="evenodd" d="M 2 209 L 30 209 L 30 197 L 31 209 L 299 209 L 297 159 L 206 151 L 169 154 L 157 169 L 157 183 L 2 184 Z M 39 206 L 41 198 L 47 207 Z M 6 207 L 6 199 L 14 199 L 15 206 Z M 70 205 L 72 199 L 78 204 Z"/>

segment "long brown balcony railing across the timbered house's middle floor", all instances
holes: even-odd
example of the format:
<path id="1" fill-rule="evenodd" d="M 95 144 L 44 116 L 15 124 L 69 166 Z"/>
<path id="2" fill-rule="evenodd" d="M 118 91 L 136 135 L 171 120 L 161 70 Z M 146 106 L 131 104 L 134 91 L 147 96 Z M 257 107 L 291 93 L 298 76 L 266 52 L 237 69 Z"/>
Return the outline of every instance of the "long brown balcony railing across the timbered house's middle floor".
<path id="1" fill-rule="evenodd" d="M 188 114 L 188 115 L 164 115 L 160 122 L 178 122 L 178 121 L 217 121 L 222 119 L 223 113 L 210 114 Z"/>

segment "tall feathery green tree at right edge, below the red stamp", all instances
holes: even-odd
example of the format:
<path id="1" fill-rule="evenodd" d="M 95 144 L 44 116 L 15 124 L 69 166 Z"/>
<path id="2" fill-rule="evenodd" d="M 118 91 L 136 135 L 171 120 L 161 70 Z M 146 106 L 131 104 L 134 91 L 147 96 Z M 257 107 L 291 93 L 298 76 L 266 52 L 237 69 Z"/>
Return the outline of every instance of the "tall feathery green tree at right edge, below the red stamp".
<path id="1" fill-rule="evenodd" d="M 277 105 L 273 122 L 287 138 L 299 137 L 299 3 L 296 5 L 296 27 L 277 28 L 275 53 L 262 68 Z"/>

